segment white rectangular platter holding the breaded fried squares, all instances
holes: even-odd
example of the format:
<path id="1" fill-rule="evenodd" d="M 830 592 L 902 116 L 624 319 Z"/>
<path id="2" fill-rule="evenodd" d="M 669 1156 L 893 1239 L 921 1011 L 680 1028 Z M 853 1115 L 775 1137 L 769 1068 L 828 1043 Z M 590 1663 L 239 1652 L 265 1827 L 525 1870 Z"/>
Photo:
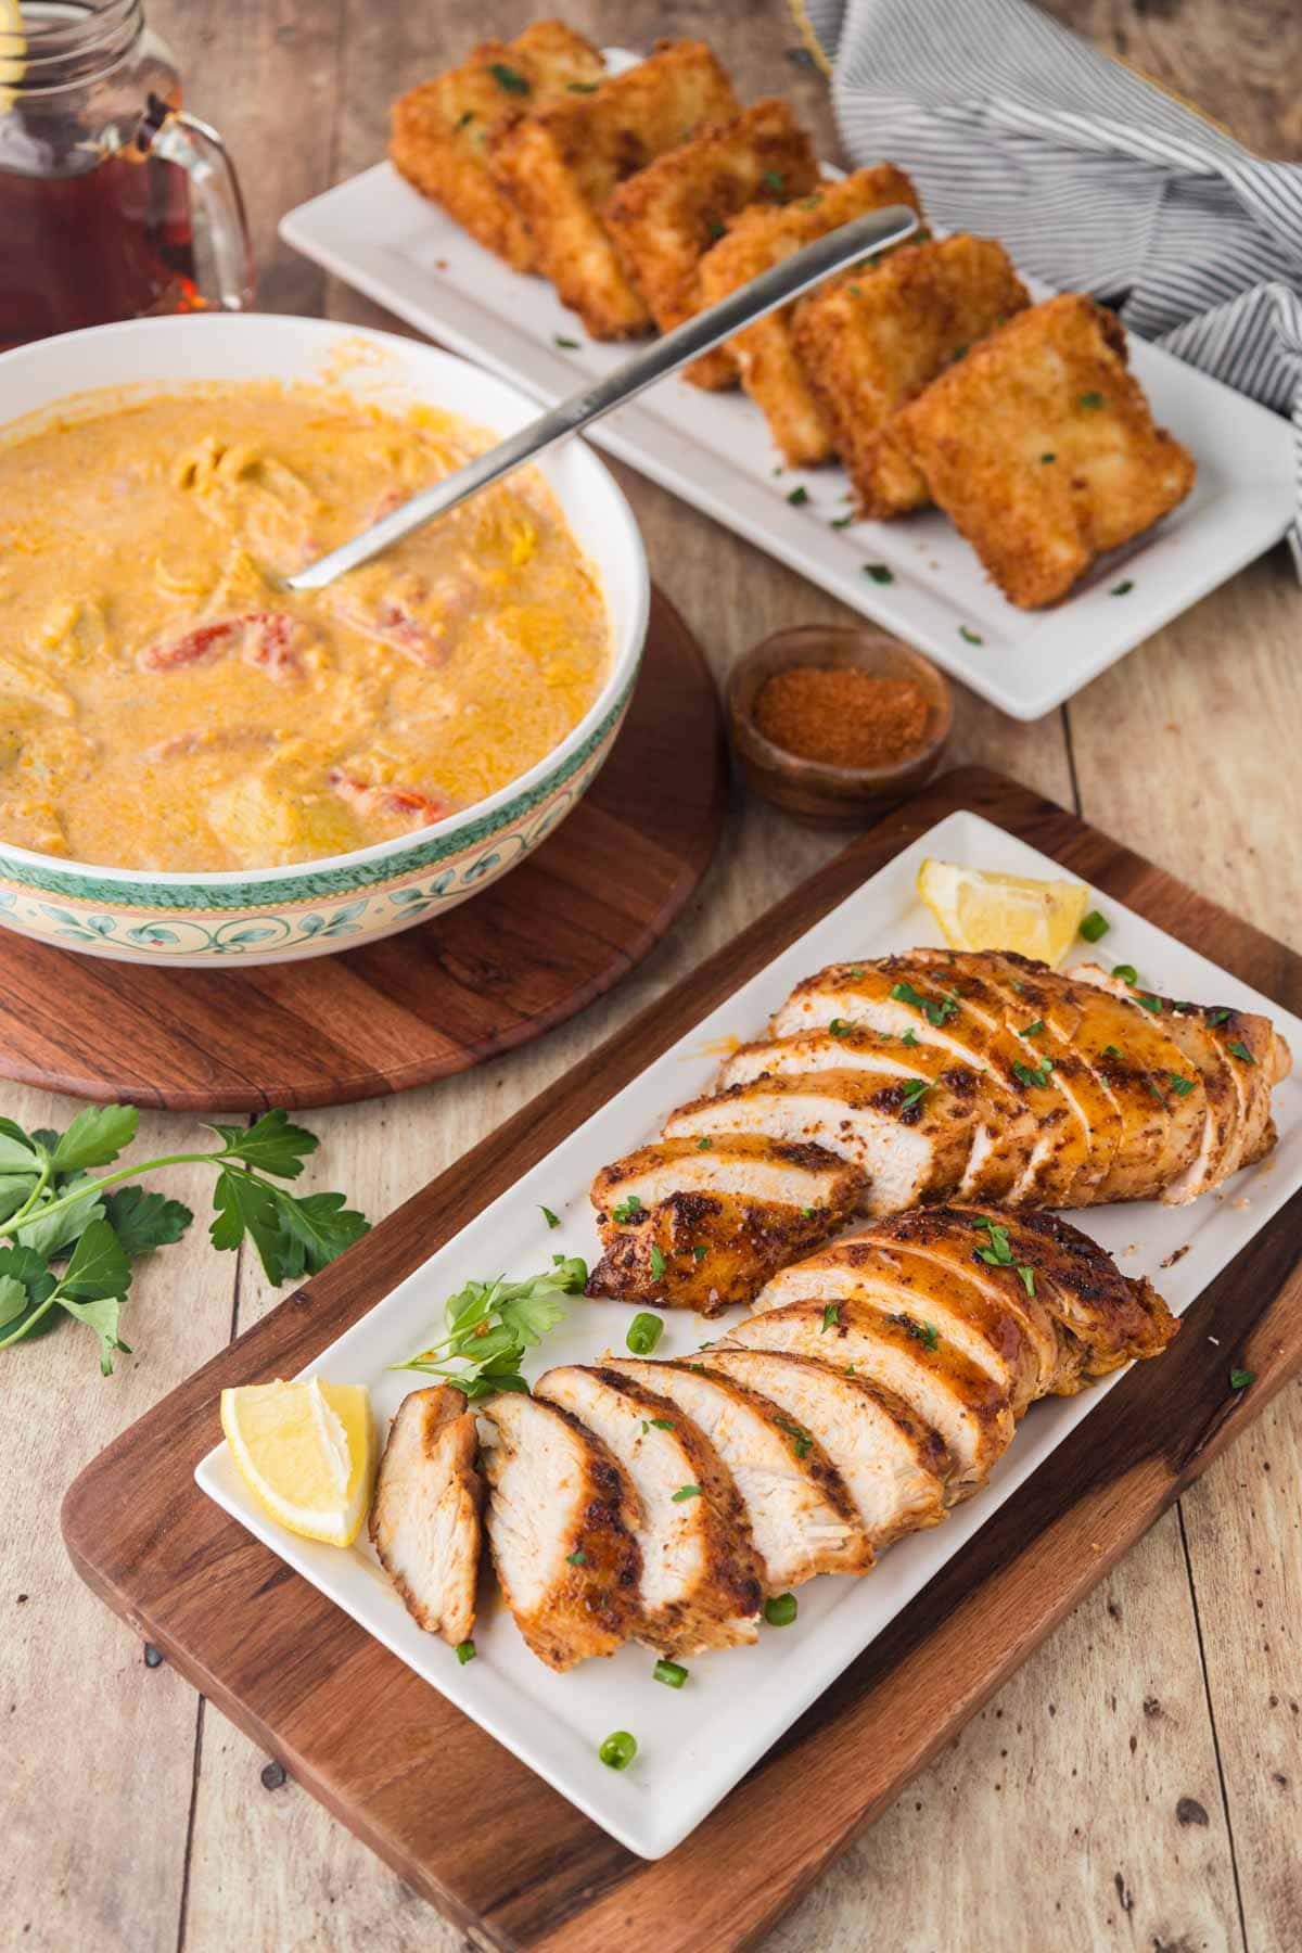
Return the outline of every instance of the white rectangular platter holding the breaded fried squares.
<path id="1" fill-rule="evenodd" d="M 607 61 L 627 66 L 632 57 L 611 49 Z M 387 162 L 289 211 L 281 236 L 545 404 L 629 355 L 590 342 L 549 283 L 511 271 Z M 1193 451 L 1199 480 L 1152 535 L 1099 561 L 1048 611 L 1007 603 L 935 510 L 832 527 L 851 506 L 845 475 L 779 469 L 763 414 L 742 393 L 662 381 L 591 439 L 929 652 L 1001 711 L 1038 719 L 1277 543 L 1292 519 L 1286 420 L 1144 340 L 1130 340 L 1130 363 L 1158 422 Z M 796 488 L 808 502 L 789 502 Z M 865 564 L 892 580 L 875 580 Z M 1128 588 L 1115 596 L 1120 584 Z"/>

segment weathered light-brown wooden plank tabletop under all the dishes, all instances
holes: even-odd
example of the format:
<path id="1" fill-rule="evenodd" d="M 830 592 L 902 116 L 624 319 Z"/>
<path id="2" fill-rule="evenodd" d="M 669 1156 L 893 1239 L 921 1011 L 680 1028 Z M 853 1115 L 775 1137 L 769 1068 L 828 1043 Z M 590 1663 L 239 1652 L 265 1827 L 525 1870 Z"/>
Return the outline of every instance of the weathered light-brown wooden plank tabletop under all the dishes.
<path id="1" fill-rule="evenodd" d="M 951 0 L 956 4 L 956 0 Z M 387 104 L 550 4 L 148 0 L 189 105 L 230 143 L 262 305 L 388 324 L 297 260 L 279 215 L 383 154 Z M 1058 18 L 1199 102 L 1253 148 L 1302 156 L 1296 0 L 1054 0 Z M 705 33 L 744 94 L 791 96 L 835 139 L 781 0 L 574 0 L 597 41 Z M 753 639 L 839 607 L 619 471 L 652 570 L 718 674 Z M 1302 596 L 1275 551 L 1033 727 L 958 695 L 955 760 L 986 760 L 1302 947 Z M 671 791 L 671 783 L 666 783 Z M 689 971 L 837 846 L 738 801 L 712 873 L 615 996 L 451 1084 L 314 1113 L 318 1182 L 381 1215 Z M 1208 945 L 1214 953 L 1214 945 Z M 72 1107 L 8 1090 L 25 1125 Z M 150 1152 L 191 1144 L 146 1117 Z M 174 1189 L 205 1213 L 199 1178 Z M 61 1332 L 6 1361 L 0 1428 L 0 1941 L 226 1953 L 453 1949 L 459 1935 L 267 1766 L 78 1584 L 57 1531 L 103 1443 L 275 1301 L 205 1228 L 137 1277 L 135 1357 L 100 1383 Z M 1148 1533 L 1003 1695 L 767 1941 L 767 1953 L 1302 1947 L 1302 1387 Z M 365 1705 L 359 1705 L 365 1713 Z M 830 1767 L 835 1767 L 832 1764 Z M 810 1795 L 818 1787 L 810 1785 Z M 761 1875 L 761 1869 L 757 1869 Z"/>

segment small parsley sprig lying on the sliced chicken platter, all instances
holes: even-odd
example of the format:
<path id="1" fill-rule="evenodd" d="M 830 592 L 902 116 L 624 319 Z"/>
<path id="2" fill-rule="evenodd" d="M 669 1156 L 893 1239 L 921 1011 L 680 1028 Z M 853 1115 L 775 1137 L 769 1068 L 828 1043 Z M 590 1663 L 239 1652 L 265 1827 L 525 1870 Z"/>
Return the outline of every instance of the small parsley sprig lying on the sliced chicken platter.
<path id="1" fill-rule="evenodd" d="M 588 1264 L 554 1254 L 552 1266 L 525 1281 L 467 1281 L 447 1299 L 447 1336 L 394 1369 L 420 1369 L 447 1377 L 467 1396 L 494 1391 L 527 1391 L 519 1375 L 525 1350 L 541 1344 L 566 1316 L 562 1295 L 582 1295 Z"/>

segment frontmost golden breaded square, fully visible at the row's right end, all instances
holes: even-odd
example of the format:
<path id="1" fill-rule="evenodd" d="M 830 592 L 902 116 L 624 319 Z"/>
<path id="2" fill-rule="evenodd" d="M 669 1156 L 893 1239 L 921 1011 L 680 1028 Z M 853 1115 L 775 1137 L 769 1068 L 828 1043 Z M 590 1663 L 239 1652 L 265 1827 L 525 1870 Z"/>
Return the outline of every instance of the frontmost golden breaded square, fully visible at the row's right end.
<path id="1" fill-rule="evenodd" d="M 1009 318 L 894 422 L 933 502 L 1023 609 L 1066 596 L 1095 557 L 1193 488 L 1193 455 L 1154 426 L 1111 312 L 1068 293 Z"/>

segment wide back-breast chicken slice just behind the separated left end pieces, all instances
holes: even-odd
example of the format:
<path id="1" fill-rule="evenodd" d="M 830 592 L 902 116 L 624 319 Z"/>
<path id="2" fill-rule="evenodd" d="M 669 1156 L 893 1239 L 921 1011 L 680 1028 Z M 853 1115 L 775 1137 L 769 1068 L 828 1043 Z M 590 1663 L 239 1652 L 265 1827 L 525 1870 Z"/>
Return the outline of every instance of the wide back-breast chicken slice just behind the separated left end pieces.
<path id="1" fill-rule="evenodd" d="M 666 1139 L 759 1131 L 826 1146 L 867 1176 L 869 1213 L 953 1193 L 972 1150 L 970 1098 L 919 1084 L 908 1070 L 755 1078 L 679 1105 L 664 1131 Z"/>

